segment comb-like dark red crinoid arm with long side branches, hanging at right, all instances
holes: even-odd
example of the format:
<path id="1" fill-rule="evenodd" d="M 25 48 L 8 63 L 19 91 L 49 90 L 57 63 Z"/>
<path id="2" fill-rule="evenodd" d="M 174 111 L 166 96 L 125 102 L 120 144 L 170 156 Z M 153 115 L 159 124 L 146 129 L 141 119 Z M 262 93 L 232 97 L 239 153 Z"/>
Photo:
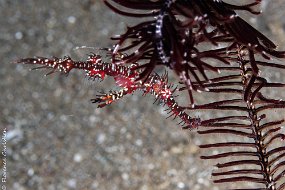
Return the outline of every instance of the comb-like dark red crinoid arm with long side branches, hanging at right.
<path id="1" fill-rule="evenodd" d="M 249 50 L 238 46 L 236 53 L 227 75 L 212 78 L 212 83 L 206 85 L 209 93 L 226 94 L 224 99 L 189 107 L 191 110 L 217 110 L 222 114 L 222 117 L 201 122 L 203 127 L 199 128 L 199 134 L 218 136 L 212 143 L 200 146 L 217 149 L 216 152 L 201 158 L 218 162 L 218 170 L 212 173 L 215 183 L 227 183 L 227 187 L 230 183 L 239 183 L 241 189 L 285 189 L 285 135 L 282 131 L 285 120 L 284 114 L 274 114 L 279 109 L 284 113 L 285 101 L 265 94 L 268 88 L 284 92 L 285 83 L 269 82 L 262 77 L 269 69 L 266 67 L 285 67 L 256 61 L 257 65 L 265 66 L 256 76 Z M 280 95 L 282 97 L 282 93 Z M 242 186 L 241 181 L 246 185 Z"/>

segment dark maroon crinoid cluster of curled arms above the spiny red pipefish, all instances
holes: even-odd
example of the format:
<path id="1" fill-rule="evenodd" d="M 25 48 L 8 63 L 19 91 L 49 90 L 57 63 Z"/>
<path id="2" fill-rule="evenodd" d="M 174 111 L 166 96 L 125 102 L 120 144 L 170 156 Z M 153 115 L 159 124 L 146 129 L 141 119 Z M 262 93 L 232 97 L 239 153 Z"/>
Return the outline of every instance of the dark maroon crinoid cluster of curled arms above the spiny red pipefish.
<path id="1" fill-rule="evenodd" d="M 139 79 L 148 78 L 157 65 L 171 68 L 188 89 L 191 106 L 194 106 L 193 90 L 208 90 L 202 82 L 210 82 L 207 73 L 220 72 L 213 60 L 221 66 L 229 65 L 226 52 L 235 44 L 249 49 L 250 64 L 255 75 L 259 72 L 254 61 L 255 54 L 266 59 L 270 56 L 284 57 L 284 52 L 276 51 L 276 45 L 272 41 L 235 13 L 236 10 L 245 10 L 259 14 L 255 6 L 261 0 L 239 6 L 222 0 L 104 2 L 118 14 L 147 19 L 112 38 L 117 41 L 114 54 L 131 52 L 123 59 L 113 59 L 113 62 L 137 62 L 137 68 L 143 69 Z M 205 48 L 209 44 L 212 45 L 211 48 Z"/>

